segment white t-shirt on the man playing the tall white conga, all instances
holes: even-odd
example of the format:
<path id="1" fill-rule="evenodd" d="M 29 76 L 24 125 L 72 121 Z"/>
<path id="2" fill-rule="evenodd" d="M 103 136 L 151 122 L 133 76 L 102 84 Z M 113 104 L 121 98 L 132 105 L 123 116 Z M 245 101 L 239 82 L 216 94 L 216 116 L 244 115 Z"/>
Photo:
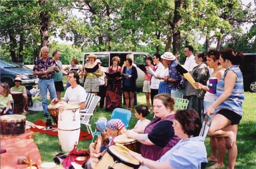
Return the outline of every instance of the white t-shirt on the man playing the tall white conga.
<path id="1" fill-rule="evenodd" d="M 79 104 L 86 101 L 86 90 L 78 85 L 75 88 L 69 87 L 64 95 L 63 100 L 71 104 Z"/>

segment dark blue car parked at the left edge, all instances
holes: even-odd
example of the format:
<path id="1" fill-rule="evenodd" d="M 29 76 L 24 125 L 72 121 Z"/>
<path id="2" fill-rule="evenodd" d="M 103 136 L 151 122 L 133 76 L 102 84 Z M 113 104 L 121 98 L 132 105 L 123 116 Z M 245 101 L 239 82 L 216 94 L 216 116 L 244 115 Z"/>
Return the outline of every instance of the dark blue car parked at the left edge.
<path id="1" fill-rule="evenodd" d="M 1 81 L 7 82 L 10 87 L 14 86 L 14 79 L 17 75 L 22 79 L 22 85 L 28 90 L 38 83 L 38 78 L 33 71 L 22 64 L 16 64 L 8 59 L 0 58 Z"/>

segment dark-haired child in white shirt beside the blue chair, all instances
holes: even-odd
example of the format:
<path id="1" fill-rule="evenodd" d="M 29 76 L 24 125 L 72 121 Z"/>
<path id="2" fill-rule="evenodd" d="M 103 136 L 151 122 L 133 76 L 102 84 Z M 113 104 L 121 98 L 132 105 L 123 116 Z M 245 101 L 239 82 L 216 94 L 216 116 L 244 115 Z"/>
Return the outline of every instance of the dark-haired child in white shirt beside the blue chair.
<path id="1" fill-rule="evenodd" d="M 150 120 L 146 119 L 146 116 L 150 113 L 148 111 L 147 106 L 145 105 L 138 105 L 135 107 L 135 117 L 139 119 L 132 129 L 137 133 L 144 133 L 145 127 L 151 122 Z"/>

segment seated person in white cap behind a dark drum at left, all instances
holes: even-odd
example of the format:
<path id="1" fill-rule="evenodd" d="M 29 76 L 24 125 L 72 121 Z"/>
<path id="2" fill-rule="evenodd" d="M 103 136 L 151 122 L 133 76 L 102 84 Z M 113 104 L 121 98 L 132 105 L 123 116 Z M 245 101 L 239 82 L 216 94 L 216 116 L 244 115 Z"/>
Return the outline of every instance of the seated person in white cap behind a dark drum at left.
<path id="1" fill-rule="evenodd" d="M 10 91 L 11 91 L 11 93 L 12 92 L 22 92 L 22 94 L 23 94 L 23 107 L 22 107 L 23 114 L 22 115 L 26 116 L 26 114 L 27 114 L 26 105 L 28 102 L 27 89 L 25 88 L 25 86 L 20 85 L 22 83 L 22 79 L 20 77 L 16 77 L 14 79 L 14 83 L 15 83 L 15 86 L 12 87 L 10 89 Z"/>

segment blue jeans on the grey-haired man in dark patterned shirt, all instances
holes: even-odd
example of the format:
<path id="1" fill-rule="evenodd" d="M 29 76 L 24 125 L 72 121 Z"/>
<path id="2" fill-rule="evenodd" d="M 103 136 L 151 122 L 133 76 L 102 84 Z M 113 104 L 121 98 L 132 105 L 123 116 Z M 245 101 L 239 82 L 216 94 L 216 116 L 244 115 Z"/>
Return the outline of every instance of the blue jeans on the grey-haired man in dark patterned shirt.
<path id="1" fill-rule="evenodd" d="M 44 113 L 46 115 L 48 115 L 49 111 L 47 109 L 47 106 L 48 106 L 47 105 L 47 89 L 49 90 L 51 99 L 54 99 L 57 97 L 53 78 L 52 79 L 39 79 L 38 87 L 39 87 L 40 94 L 41 94 L 42 108 L 44 109 Z"/>

